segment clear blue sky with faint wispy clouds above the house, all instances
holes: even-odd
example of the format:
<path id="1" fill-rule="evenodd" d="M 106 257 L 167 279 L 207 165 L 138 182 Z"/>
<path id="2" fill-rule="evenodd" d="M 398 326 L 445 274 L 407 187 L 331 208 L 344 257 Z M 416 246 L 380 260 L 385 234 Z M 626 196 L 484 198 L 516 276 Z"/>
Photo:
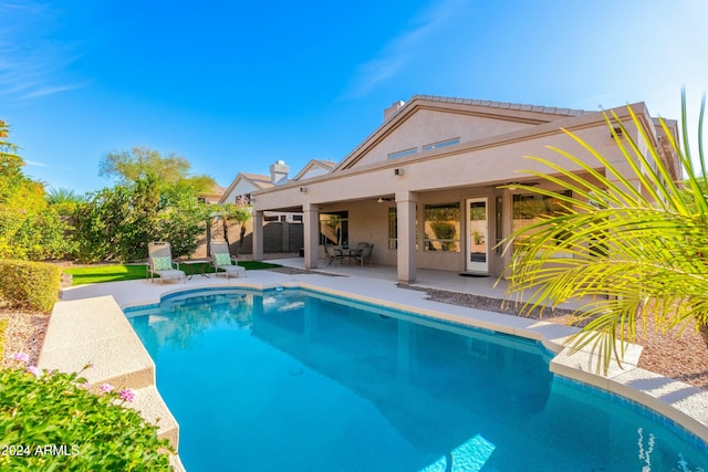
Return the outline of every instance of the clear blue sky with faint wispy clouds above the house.
<path id="1" fill-rule="evenodd" d="M 147 146 L 228 186 L 344 158 L 415 94 L 678 118 L 708 91 L 705 0 L 0 0 L 0 119 L 77 193 Z"/>

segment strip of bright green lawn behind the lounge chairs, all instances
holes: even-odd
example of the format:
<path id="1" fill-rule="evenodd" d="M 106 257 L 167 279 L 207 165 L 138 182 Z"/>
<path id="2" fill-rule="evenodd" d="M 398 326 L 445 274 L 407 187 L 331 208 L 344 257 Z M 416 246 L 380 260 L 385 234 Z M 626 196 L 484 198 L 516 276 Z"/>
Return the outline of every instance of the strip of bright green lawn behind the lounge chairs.
<path id="1" fill-rule="evenodd" d="M 248 271 L 257 271 L 261 269 L 280 268 L 278 264 L 258 261 L 239 261 L 239 265 Z M 211 272 L 210 264 L 194 264 L 188 272 L 199 273 L 201 271 Z M 64 272 L 72 275 L 72 285 L 84 285 L 90 283 L 102 282 L 121 282 L 145 279 L 145 265 L 91 265 L 87 268 L 64 269 Z"/>

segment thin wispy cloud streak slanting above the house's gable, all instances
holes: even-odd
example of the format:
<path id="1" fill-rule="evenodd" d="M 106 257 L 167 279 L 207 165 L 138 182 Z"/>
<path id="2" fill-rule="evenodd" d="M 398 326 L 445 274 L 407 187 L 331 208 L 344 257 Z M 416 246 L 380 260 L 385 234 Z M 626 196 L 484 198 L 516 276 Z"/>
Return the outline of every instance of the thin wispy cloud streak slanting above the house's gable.
<path id="1" fill-rule="evenodd" d="M 412 22 L 412 28 L 402 32 L 369 61 L 360 64 L 343 98 L 360 98 L 368 95 L 377 85 L 394 77 L 410 61 L 416 48 L 423 44 L 467 0 L 446 0 L 435 6 Z"/>

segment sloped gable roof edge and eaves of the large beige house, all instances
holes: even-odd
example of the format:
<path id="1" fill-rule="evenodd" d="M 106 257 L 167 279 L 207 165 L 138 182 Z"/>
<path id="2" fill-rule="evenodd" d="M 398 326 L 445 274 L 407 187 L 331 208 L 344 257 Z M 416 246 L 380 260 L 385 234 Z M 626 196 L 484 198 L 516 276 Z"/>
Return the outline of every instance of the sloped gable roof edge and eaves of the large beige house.
<path id="1" fill-rule="evenodd" d="M 334 170 L 339 171 L 352 168 L 363 156 L 395 133 L 399 126 L 410 122 L 412 117 L 421 111 L 452 113 L 460 116 L 507 124 L 507 127 L 499 127 L 499 134 L 509 133 L 521 127 L 531 127 L 589 113 L 596 113 L 583 109 L 534 106 L 518 103 L 414 95 L 408 103 L 403 104 L 392 113 L 362 144 L 340 161 Z M 493 136 L 493 134 L 490 135 L 488 133 L 485 135 L 485 137 L 489 136 Z M 468 137 L 462 140 L 470 140 L 470 138 Z"/>

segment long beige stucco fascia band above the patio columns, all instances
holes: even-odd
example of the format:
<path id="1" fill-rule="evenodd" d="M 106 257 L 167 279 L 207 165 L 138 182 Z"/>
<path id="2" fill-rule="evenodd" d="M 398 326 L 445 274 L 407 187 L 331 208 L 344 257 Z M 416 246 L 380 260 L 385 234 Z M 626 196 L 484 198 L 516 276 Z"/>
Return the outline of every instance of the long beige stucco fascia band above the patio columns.
<path id="1" fill-rule="evenodd" d="M 579 157 L 587 158 L 589 154 L 559 132 L 556 126 L 542 126 L 548 129 L 548 134 L 542 136 L 530 137 L 512 133 L 507 135 L 507 140 L 502 144 L 478 139 L 456 146 L 456 149 L 442 148 L 385 162 L 361 164 L 353 169 L 310 180 L 306 192 L 300 191 L 301 183 L 280 186 L 273 189 L 275 191 L 258 192 L 254 207 L 257 210 L 278 210 L 304 203 L 393 197 L 396 191 L 420 192 L 487 186 L 529 178 L 528 175 L 520 174 L 520 169 L 548 170 L 538 162 L 524 159 L 525 155 L 542 156 L 570 170 L 579 170 L 577 166 L 571 165 L 546 146 L 556 146 Z M 577 129 L 576 133 L 593 143 L 604 155 L 618 153 L 604 123 Z M 405 175 L 395 176 L 396 168 L 403 168 Z"/>

